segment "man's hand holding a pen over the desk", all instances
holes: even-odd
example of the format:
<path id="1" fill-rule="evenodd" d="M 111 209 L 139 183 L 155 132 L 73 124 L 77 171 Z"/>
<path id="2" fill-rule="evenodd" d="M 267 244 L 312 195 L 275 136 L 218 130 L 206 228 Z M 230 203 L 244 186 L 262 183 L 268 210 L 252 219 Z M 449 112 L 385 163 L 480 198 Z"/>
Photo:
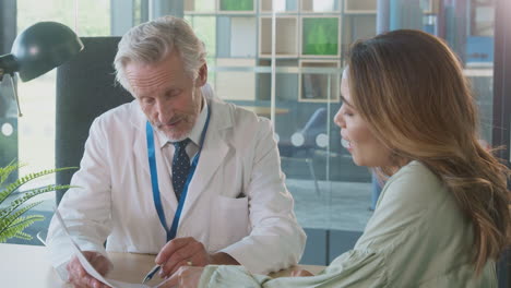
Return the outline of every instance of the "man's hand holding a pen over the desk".
<path id="1" fill-rule="evenodd" d="M 174 275 L 181 266 L 200 266 L 209 264 L 239 263 L 227 253 L 215 253 L 210 255 L 204 244 L 192 237 L 176 238 L 168 241 L 155 259 L 156 264 L 162 265 L 161 277 Z"/>

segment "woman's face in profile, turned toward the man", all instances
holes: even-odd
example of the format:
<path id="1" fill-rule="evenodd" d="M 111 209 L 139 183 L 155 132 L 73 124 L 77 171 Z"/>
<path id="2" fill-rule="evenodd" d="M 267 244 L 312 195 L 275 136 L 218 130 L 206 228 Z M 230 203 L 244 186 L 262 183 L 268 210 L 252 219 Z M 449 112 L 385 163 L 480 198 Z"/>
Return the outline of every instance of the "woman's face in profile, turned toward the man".
<path id="1" fill-rule="evenodd" d="M 344 76 L 341 82 L 341 94 L 343 105 L 335 115 L 334 122 L 341 128 L 342 144 L 352 154 L 353 161 L 367 167 L 389 166 L 390 149 L 372 134 L 368 123 L 353 107 L 348 80 Z"/>

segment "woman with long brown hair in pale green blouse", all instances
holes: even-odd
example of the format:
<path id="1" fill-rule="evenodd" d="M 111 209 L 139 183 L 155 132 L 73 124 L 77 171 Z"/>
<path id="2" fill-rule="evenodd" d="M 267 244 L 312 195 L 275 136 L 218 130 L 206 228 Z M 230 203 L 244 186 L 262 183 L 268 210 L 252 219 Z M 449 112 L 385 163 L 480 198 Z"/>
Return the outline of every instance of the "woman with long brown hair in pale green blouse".
<path id="1" fill-rule="evenodd" d="M 341 93 L 334 121 L 344 146 L 355 164 L 388 178 L 355 248 L 317 276 L 206 266 L 183 268 L 169 285 L 497 286 L 495 262 L 510 239 L 510 170 L 478 142 L 476 105 L 454 53 L 418 31 L 358 41 Z"/>

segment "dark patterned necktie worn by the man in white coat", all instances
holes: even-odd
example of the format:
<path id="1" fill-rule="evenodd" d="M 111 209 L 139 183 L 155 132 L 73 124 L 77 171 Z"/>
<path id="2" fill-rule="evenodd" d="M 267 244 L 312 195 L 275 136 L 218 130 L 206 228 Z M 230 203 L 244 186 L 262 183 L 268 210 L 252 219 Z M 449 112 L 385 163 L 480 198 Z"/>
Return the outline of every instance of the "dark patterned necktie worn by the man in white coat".
<path id="1" fill-rule="evenodd" d="M 173 187 L 178 201 L 181 196 L 185 183 L 187 182 L 188 172 L 190 171 L 190 157 L 188 157 L 186 151 L 189 142 L 190 140 L 186 139 L 183 141 L 173 143 L 176 148 L 174 151 L 173 158 Z"/>

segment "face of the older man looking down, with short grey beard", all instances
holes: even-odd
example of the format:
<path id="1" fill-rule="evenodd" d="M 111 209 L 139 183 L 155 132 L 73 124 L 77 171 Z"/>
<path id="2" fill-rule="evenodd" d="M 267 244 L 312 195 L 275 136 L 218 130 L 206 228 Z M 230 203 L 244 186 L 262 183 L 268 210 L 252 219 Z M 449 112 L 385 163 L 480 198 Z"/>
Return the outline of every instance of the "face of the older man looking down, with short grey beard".
<path id="1" fill-rule="evenodd" d="M 192 80 L 179 53 L 173 51 L 157 63 L 128 63 L 126 76 L 153 127 L 173 142 L 188 137 L 202 107 L 200 87 L 207 79 L 205 64 L 198 79 Z"/>

